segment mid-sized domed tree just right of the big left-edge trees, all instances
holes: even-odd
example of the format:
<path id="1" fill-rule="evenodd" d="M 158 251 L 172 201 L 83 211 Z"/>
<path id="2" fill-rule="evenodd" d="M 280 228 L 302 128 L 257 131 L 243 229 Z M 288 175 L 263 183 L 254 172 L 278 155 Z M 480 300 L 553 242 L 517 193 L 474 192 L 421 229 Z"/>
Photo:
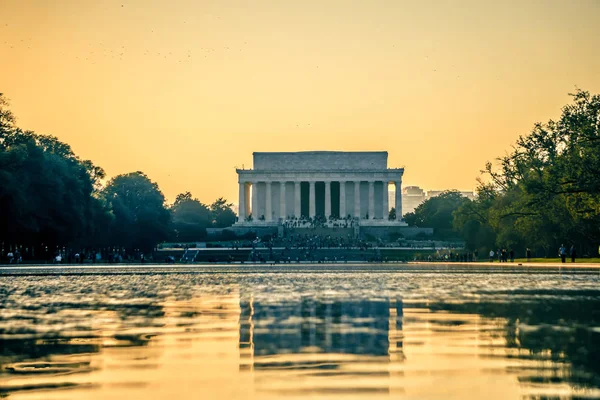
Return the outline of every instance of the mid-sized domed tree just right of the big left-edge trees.
<path id="1" fill-rule="evenodd" d="M 170 213 L 165 197 L 143 172 L 114 177 L 102 196 L 114 214 L 110 229 L 114 245 L 151 251 L 168 237 Z"/>

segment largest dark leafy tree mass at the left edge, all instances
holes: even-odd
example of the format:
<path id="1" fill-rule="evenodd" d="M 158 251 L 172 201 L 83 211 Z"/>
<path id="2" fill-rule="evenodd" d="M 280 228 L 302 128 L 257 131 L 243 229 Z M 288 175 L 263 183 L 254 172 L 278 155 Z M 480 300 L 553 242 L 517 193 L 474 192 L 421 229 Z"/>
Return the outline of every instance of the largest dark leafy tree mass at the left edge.
<path id="1" fill-rule="evenodd" d="M 96 178 L 90 175 L 92 169 Z M 94 179 L 103 174 L 55 137 L 4 129 L 0 239 L 31 247 L 43 244 L 49 249 L 84 243 L 95 230 L 95 216 L 101 214 Z"/>

